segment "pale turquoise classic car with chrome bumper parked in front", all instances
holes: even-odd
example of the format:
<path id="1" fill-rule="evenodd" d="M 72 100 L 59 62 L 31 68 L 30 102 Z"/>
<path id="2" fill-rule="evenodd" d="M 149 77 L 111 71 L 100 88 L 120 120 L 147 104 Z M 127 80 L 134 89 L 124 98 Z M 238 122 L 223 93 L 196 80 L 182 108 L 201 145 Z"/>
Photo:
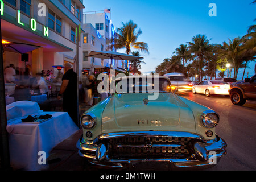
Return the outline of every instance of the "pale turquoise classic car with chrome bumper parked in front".
<path id="1" fill-rule="evenodd" d="M 135 169 L 213 167 L 226 154 L 219 115 L 175 94 L 164 76 L 115 80 L 115 93 L 80 118 L 79 155 L 91 164 Z M 153 92 L 152 92 L 153 91 Z"/>

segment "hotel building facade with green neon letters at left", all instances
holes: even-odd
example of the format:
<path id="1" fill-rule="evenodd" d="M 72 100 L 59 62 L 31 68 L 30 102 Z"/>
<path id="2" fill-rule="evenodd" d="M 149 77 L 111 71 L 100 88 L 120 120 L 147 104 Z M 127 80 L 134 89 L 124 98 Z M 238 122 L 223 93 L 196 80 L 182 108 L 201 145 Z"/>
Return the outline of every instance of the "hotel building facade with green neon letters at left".
<path id="1" fill-rule="evenodd" d="M 76 67 L 76 28 L 82 24 L 82 0 L 3 0 L 1 1 L 2 39 L 6 47 L 10 43 L 22 43 L 28 48 L 26 65 L 32 75 L 41 70 L 58 71 L 53 65 L 69 62 Z M 81 28 L 80 39 L 82 39 Z M 30 46 L 39 48 L 31 49 Z M 4 66 L 10 63 L 24 71 L 21 53 L 5 50 Z M 82 68 L 82 41 L 79 42 L 79 67 Z"/>

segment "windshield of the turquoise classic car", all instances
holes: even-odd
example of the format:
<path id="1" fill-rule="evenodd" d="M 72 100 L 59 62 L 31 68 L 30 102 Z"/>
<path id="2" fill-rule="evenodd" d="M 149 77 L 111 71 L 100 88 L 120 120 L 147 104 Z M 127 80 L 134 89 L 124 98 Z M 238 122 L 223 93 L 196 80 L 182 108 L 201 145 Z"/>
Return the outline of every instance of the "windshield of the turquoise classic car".
<path id="1" fill-rule="evenodd" d="M 115 82 L 115 93 L 171 92 L 170 81 L 159 78 L 129 78 Z"/>

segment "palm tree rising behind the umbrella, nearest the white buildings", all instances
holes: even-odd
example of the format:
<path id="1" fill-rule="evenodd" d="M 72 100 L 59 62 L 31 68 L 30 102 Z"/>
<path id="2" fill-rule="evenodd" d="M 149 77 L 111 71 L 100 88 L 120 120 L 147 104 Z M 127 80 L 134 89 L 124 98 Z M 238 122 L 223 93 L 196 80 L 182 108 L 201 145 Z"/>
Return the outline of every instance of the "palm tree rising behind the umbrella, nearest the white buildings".
<path id="1" fill-rule="evenodd" d="M 122 22 L 122 27 L 117 28 L 114 38 L 111 40 L 109 49 L 126 49 L 126 53 L 131 53 L 131 48 L 137 49 L 139 51 L 144 51 L 148 53 L 147 43 L 137 42 L 138 36 L 142 34 L 141 28 L 138 28 L 132 20 L 124 24 Z M 126 65 L 128 69 L 128 61 Z"/>

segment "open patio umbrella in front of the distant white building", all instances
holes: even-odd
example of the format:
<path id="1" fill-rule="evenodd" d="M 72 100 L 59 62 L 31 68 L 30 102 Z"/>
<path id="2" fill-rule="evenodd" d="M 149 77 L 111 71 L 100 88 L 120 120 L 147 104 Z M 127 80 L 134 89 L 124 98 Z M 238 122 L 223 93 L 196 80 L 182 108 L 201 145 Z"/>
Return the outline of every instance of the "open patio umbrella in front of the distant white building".
<path id="1" fill-rule="evenodd" d="M 112 67 L 112 60 L 136 60 L 142 59 L 143 57 L 127 55 L 125 53 L 113 52 L 113 51 L 91 51 L 86 57 L 96 57 L 101 59 L 110 59 L 110 68 Z"/>

